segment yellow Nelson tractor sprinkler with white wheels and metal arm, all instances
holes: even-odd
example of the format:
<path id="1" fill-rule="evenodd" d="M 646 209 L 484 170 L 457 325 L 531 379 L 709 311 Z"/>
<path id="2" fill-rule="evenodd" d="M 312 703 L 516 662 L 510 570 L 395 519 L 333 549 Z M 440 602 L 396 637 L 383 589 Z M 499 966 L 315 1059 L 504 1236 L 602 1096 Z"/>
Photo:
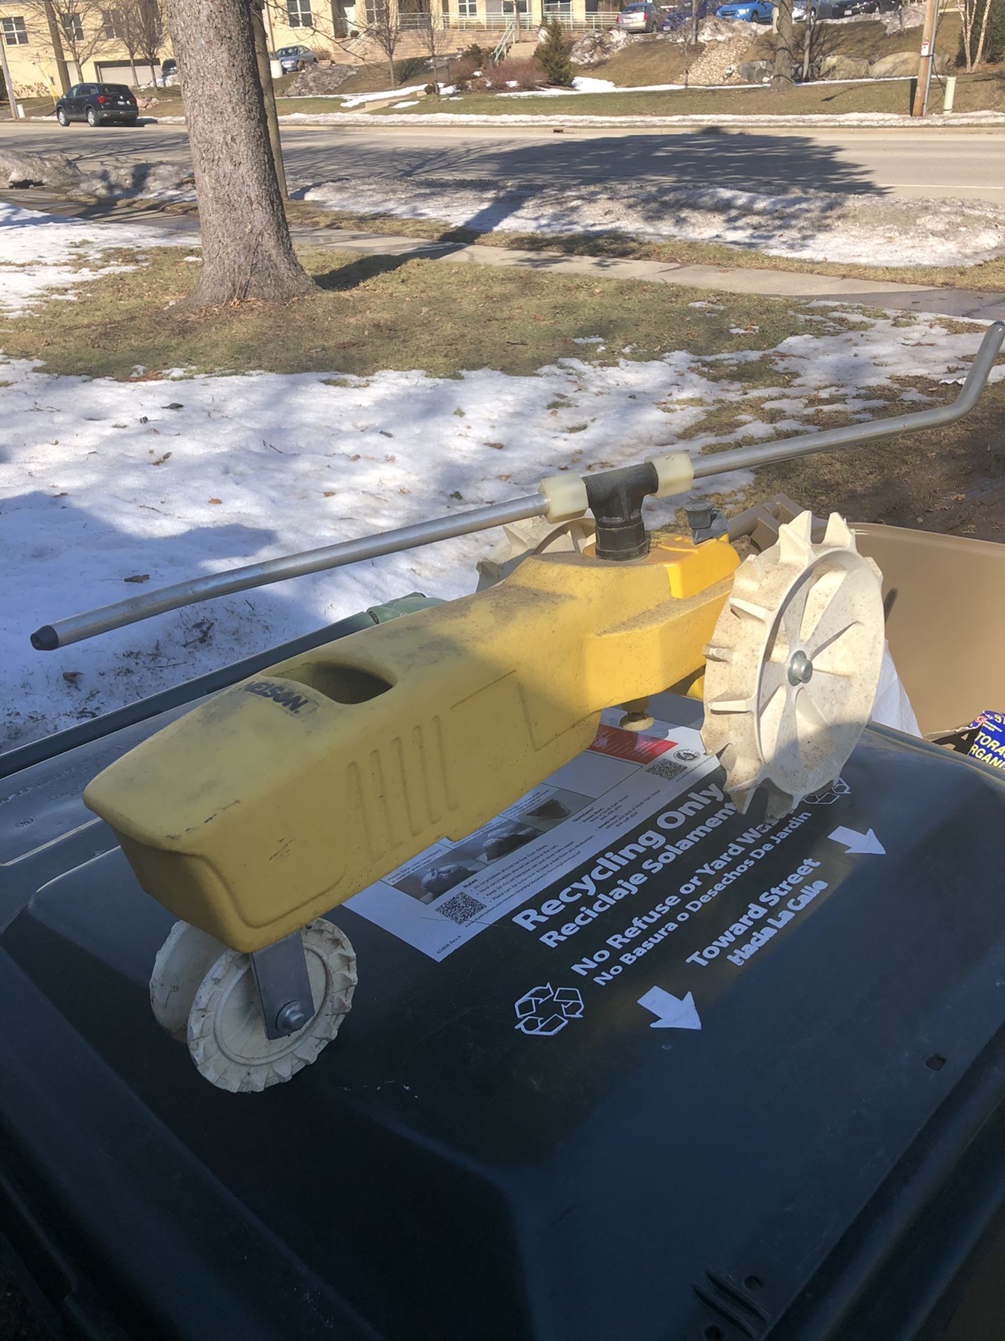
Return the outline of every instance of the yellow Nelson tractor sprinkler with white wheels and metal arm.
<path id="1" fill-rule="evenodd" d="M 38 630 L 35 645 L 52 649 L 193 601 L 537 519 L 532 551 L 501 581 L 272 665 L 87 786 L 87 806 L 113 827 L 139 884 L 178 919 L 150 998 L 201 1074 L 261 1090 L 314 1062 L 358 980 L 352 944 L 328 915 L 431 846 L 462 845 L 586 751 L 610 709 L 619 732 L 651 739 L 653 696 L 704 700 L 702 742 L 741 814 L 761 794 L 757 814 L 772 823 L 825 793 L 870 719 L 884 661 L 871 544 L 856 543 L 838 514 L 824 524 L 776 515 L 773 543 L 741 562 L 742 526 L 698 507 L 690 534 L 649 532 L 643 502 L 946 424 L 974 404 L 1002 337 L 1005 326 L 989 329 L 943 409 L 563 473 L 512 503 L 202 577 Z M 744 524 L 765 519 L 756 510 Z"/>

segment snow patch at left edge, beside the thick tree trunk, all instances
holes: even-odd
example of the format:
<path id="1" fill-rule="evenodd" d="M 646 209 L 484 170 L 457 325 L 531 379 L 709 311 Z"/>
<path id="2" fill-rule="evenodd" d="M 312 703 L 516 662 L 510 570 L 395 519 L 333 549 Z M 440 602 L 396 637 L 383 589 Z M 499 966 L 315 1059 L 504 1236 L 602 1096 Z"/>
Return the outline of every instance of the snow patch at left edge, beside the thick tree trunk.
<path id="1" fill-rule="evenodd" d="M 129 270 L 123 264 L 102 264 L 102 252 L 121 247 L 192 245 L 158 229 L 137 231 L 129 224 L 86 223 L 56 219 L 34 209 L 0 201 L 0 312 L 24 311 L 28 299 L 43 290 L 68 288 L 96 275 Z M 87 256 L 86 268 L 76 268 Z M 74 295 L 67 294 L 67 300 Z"/>

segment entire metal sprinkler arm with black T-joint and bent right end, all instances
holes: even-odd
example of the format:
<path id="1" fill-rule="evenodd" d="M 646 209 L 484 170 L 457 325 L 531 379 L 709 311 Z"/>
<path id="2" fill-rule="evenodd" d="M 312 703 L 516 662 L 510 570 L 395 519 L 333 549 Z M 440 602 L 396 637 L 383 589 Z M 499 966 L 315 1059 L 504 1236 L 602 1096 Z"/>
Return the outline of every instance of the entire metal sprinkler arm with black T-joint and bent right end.
<path id="1" fill-rule="evenodd" d="M 327 569 L 358 563 L 360 559 L 374 559 L 385 554 L 398 554 L 437 540 L 448 540 L 460 535 L 485 531 L 508 522 L 520 522 L 533 516 L 547 516 L 553 522 L 572 520 L 594 511 L 599 530 L 610 532 L 610 552 L 604 558 L 634 558 L 631 534 L 639 530 L 638 511 L 642 499 L 649 495 L 670 496 L 686 493 L 693 479 L 708 479 L 730 471 L 756 469 L 779 461 L 789 461 L 816 452 L 831 452 L 843 447 L 864 447 L 899 433 L 915 429 L 941 428 L 953 424 L 967 414 L 980 397 L 994 365 L 994 359 L 1005 342 L 1005 323 L 993 322 L 981 341 L 962 390 L 951 405 L 942 405 L 917 414 L 895 414 L 890 418 L 874 420 L 870 424 L 854 424 L 848 428 L 827 429 L 823 433 L 809 433 L 804 437 L 783 439 L 780 443 L 741 447 L 729 452 L 714 452 L 689 460 L 683 452 L 669 452 L 650 457 L 645 465 L 630 465 L 615 471 L 584 476 L 552 476 L 541 481 L 541 491 L 508 503 L 494 503 L 490 507 L 469 512 L 456 512 L 453 516 L 437 518 L 431 522 L 418 522 L 414 526 L 394 531 L 381 531 L 377 535 L 360 536 L 356 540 L 342 540 L 318 550 L 267 559 L 264 563 L 251 563 L 226 573 L 213 573 L 174 586 L 162 587 L 127 601 L 117 601 L 96 610 L 71 616 L 55 624 L 44 624 L 31 636 L 31 644 L 39 652 L 54 652 L 71 642 L 92 638 L 99 633 L 119 629 L 138 620 L 149 620 L 168 610 L 208 601 L 212 597 L 230 595 L 249 587 L 267 586 L 271 582 L 285 582 L 288 578 L 308 573 L 322 573 Z M 655 467 L 655 469 L 653 469 Z M 615 539 L 614 532 L 623 532 Z M 631 532 L 631 534 L 630 534 Z M 598 548 L 600 552 L 600 547 Z M 645 552 L 642 550 L 641 552 Z"/>

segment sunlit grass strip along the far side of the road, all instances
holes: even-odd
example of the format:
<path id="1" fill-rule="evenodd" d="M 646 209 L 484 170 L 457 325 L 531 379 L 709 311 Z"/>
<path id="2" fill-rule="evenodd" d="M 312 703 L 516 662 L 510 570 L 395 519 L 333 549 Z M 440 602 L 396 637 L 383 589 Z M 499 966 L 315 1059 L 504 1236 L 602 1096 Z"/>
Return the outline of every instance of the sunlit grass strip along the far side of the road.
<path id="1" fill-rule="evenodd" d="M 809 83 L 773 93 L 761 89 L 674 89 L 666 93 L 600 93 L 570 94 L 552 98 L 509 98 L 505 94 L 468 94 L 441 99 L 436 110 L 464 115 L 543 115 L 543 117 L 718 117 L 718 115 L 839 115 L 847 111 L 884 111 L 907 115 L 910 80 L 875 80 L 871 83 Z M 405 107 L 395 115 L 410 117 L 430 111 L 423 99 L 417 107 Z M 988 71 L 959 75 L 957 111 L 1005 110 L 1005 72 Z M 389 109 L 371 115 L 386 115 Z"/>

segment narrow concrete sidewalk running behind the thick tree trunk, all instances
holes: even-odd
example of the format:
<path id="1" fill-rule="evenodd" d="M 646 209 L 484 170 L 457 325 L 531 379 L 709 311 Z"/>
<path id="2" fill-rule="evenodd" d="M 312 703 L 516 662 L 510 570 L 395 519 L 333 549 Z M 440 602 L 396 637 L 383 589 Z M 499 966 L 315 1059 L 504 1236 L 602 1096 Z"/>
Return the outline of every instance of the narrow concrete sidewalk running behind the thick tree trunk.
<path id="1" fill-rule="evenodd" d="M 168 215 L 157 209 L 142 212 L 95 208 L 59 200 L 42 189 L 0 192 L 0 200 L 27 209 L 43 209 L 63 217 L 109 217 L 117 223 L 150 224 L 177 235 L 198 237 L 198 220 Z M 438 243 L 423 237 L 397 237 L 386 233 L 339 228 L 292 227 L 293 240 L 303 247 L 346 251 L 363 256 L 422 257 L 452 264 L 503 266 L 539 274 L 592 275 L 598 279 L 645 280 L 690 288 L 716 288 L 725 294 L 765 294 L 793 299 L 833 299 L 887 307 L 896 311 L 934 312 L 973 320 L 1005 316 L 1005 294 L 977 288 L 933 288 L 927 284 L 886 283 L 844 279 L 800 271 L 753 270 L 738 266 L 678 266 L 671 261 L 626 260 L 615 256 L 565 256 L 561 252 L 524 251 L 516 247 L 486 247 L 478 243 Z"/>

